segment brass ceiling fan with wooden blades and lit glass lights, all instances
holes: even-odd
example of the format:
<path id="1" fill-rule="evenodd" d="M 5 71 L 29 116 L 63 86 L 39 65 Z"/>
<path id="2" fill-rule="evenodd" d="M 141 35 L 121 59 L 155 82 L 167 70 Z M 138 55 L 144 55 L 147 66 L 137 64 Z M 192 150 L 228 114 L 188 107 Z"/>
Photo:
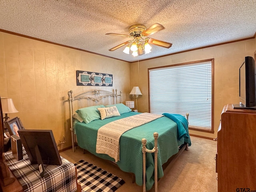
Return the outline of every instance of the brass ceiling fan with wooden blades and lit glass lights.
<path id="1" fill-rule="evenodd" d="M 109 50 L 114 51 L 114 50 L 128 44 L 128 46 L 126 46 L 126 48 L 124 49 L 123 52 L 126 54 L 129 54 L 130 50 L 131 50 L 133 56 L 138 56 L 138 55 L 147 54 L 147 53 L 151 52 L 152 47 L 149 44 L 161 46 L 164 48 L 170 48 L 172 46 L 171 43 L 147 37 L 147 36 L 152 35 L 160 30 L 163 30 L 163 29 L 164 29 L 164 26 L 162 26 L 161 24 L 158 24 L 158 23 L 153 24 L 148 29 L 146 29 L 146 26 L 144 26 L 142 24 L 135 24 L 135 25 L 130 26 L 130 28 L 129 28 L 130 35 L 107 33 L 106 35 L 115 35 L 115 36 L 133 38 L 133 40 L 126 41 L 118 46 L 115 46 L 115 47 L 109 49 Z"/>

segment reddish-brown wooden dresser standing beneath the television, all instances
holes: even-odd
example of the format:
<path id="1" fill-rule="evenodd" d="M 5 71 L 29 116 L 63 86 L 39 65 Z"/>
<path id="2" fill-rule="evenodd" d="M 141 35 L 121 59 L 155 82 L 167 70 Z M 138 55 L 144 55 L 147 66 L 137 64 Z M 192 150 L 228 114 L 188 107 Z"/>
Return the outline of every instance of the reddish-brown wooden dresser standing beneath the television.
<path id="1" fill-rule="evenodd" d="M 217 136 L 218 192 L 256 190 L 256 110 L 224 106 Z"/>

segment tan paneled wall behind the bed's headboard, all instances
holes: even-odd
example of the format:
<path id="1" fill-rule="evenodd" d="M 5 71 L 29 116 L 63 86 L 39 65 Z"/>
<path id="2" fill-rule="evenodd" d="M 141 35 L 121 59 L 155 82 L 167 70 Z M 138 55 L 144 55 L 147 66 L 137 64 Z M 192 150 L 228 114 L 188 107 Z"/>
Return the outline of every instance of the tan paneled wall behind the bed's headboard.
<path id="1" fill-rule="evenodd" d="M 113 74 L 112 87 L 76 86 L 76 70 Z M 130 63 L 0 32 L 0 96 L 13 99 L 26 129 L 51 129 L 58 143 L 71 146 L 68 91 L 103 89 L 128 97 Z"/>

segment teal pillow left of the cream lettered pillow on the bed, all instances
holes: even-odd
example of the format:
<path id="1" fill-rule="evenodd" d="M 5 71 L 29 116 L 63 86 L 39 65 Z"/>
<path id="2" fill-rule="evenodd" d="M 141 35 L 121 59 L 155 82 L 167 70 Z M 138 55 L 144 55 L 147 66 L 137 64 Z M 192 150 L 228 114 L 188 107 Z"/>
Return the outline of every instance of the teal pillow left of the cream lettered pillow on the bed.
<path id="1" fill-rule="evenodd" d="M 87 124 L 94 120 L 100 119 L 100 113 L 97 109 L 100 107 L 105 107 L 105 106 L 104 105 L 96 105 L 96 106 L 85 107 L 85 108 L 76 110 L 76 112 Z"/>

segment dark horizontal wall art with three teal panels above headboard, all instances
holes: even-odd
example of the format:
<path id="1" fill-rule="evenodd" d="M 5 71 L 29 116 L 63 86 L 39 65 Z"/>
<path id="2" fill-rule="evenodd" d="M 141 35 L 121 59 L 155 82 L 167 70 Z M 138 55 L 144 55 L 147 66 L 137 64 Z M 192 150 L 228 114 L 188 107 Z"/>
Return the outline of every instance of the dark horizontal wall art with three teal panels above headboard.
<path id="1" fill-rule="evenodd" d="M 89 71 L 76 71 L 77 86 L 112 86 L 113 75 Z"/>

